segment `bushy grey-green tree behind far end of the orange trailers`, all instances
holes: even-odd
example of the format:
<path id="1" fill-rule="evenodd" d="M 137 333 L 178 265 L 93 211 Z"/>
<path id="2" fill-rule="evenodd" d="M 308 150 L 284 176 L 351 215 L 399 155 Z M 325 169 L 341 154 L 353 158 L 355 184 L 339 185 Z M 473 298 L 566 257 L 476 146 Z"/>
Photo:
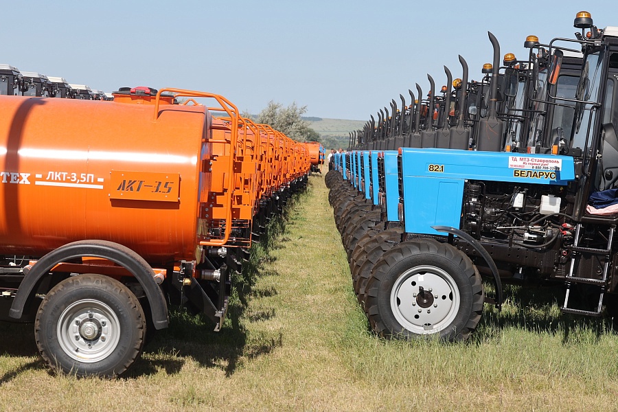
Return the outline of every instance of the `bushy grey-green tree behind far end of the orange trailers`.
<path id="1" fill-rule="evenodd" d="M 298 141 L 312 141 L 319 138 L 319 134 L 309 127 L 309 122 L 302 119 L 306 113 L 307 106 L 297 106 L 293 102 L 287 107 L 272 100 L 258 115 L 256 122 L 268 124 L 275 130 L 285 133 L 290 139 Z"/>

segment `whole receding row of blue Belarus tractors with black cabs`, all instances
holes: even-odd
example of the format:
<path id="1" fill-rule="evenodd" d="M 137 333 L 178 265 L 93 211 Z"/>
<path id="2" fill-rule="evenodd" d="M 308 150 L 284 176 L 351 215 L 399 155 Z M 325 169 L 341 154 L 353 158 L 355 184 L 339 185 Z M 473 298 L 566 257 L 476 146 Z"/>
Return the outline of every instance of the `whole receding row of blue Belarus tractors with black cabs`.
<path id="1" fill-rule="evenodd" d="M 325 176 L 354 291 L 387 338 L 462 341 L 503 284 L 564 285 L 565 313 L 618 307 L 618 27 L 528 36 L 350 134 Z M 485 282 L 483 282 L 485 281 Z M 485 294 L 485 285 L 493 284 Z"/>

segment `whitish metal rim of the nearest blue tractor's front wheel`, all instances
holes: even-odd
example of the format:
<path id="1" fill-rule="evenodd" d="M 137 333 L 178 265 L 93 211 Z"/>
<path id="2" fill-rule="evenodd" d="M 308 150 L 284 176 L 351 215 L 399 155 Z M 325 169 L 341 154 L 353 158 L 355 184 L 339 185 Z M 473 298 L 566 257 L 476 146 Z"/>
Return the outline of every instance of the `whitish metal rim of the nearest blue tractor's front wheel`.
<path id="1" fill-rule="evenodd" d="M 461 297 L 446 271 L 436 266 L 415 266 L 395 281 L 390 301 L 395 319 L 405 329 L 433 334 L 455 319 Z"/>

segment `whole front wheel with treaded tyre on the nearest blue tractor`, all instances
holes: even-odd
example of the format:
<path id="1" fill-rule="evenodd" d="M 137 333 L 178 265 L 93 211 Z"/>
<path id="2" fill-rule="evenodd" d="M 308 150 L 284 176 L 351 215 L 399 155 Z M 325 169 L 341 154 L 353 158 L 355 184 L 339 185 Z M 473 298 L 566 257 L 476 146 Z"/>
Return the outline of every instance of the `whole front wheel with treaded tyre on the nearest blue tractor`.
<path id="1" fill-rule="evenodd" d="M 483 285 L 470 258 L 455 247 L 413 240 L 382 256 L 367 282 L 365 304 L 380 336 L 464 341 L 481 320 Z"/>

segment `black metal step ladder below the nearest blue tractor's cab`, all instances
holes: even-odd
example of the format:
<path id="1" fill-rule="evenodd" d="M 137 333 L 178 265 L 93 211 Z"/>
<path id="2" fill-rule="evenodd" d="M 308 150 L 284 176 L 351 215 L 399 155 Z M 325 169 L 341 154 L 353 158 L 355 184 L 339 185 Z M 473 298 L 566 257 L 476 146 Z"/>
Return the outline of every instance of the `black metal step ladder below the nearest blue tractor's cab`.
<path id="1" fill-rule="evenodd" d="M 606 249 L 595 249 L 591 247 L 580 247 L 580 232 L 582 231 L 582 224 L 578 223 L 577 227 L 575 227 L 575 241 L 573 242 L 573 247 L 571 247 L 572 255 L 571 255 L 571 268 L 569 269 L 569 275 L 565 277 L 565 282 L 567 282 L 567 294 L 564 295 L 564 305 L 560 308 L 563 313 L 573 313 L 573 314 L 584 314 L 586 316 L 600 317 L 601 316 L 601 308 L 603 305 L 603 296 L 605 294 L 605 286 L 607 276 L 610 270 L 611 264 L 611 251 L 614 240 L 614 232 L 616 226 L 612 225 L 609 229 L 609 236 L 607 241 Z M 579 277 L 575 276 L 573 273 L 575 272 L 575 261 L 577 260 L 577 255 L 580 253 L 590 253 L 591 255 L 599 255 L 605 257 L 605 264 L 603 265 L 603 275 L 601 279 L 592 279 L 590 277 Z M 599 304 L 597 304 L 597 310 L 580 310 L 569 308 L 569 293 L 571 292 L 571 285 L 573 284 L 588 284 L 588 285 L 596 285 L 600 288 L 599 293 Z"/>

